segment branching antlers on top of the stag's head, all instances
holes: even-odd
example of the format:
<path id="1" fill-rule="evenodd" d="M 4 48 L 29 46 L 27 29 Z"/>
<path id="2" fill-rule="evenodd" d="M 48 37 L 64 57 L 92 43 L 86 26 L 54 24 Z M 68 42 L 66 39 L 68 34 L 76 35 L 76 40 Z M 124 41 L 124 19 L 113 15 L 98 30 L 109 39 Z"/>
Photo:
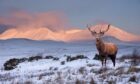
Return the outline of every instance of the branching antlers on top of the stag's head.
<path id="1" fill-rule="evenodd" d="M 92 26 L 92 25 L 88 25 L 88 24 L 87 24 L 87 28 L 88 28 L 88 30 L 92 33 L 92 35 L 96 35 L 96 34 L 104 35 L 104 33 L 107 32 L 107 31 L 109 30 L 109 28 L 110 28 L 110 24 L 108 24 L 108 25 L 107 25 L 107 29 L 104 30 L 104 31 L 101 31 L 101 29 L 104 28 L 104 25 L 97 25 L 98 28 L 101 28 L 101 29 L 100 29 L 100 32 L 97 33 L 97 32 L 95 31 L 95 29 L 94 29 L 93 31 L 90 29 L 91 26 Z"/>

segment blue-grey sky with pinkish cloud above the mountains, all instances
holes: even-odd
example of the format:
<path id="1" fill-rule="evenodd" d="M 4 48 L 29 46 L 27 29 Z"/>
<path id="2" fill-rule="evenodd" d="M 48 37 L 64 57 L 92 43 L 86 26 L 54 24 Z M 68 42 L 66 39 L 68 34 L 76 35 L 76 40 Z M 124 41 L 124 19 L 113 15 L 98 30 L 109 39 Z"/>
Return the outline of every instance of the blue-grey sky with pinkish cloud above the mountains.
<path id="1" fill-rule="evenodd" d="M 140 35 L 140 0 L 0 0 L 0 24 L 47 23 L 76 28 L 110 23 Z"/>

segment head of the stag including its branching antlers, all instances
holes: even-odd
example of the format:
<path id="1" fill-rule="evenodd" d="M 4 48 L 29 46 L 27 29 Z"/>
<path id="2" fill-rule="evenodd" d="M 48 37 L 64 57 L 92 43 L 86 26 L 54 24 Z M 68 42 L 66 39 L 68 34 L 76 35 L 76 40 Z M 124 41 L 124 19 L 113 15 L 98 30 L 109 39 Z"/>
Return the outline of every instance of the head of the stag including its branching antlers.
<path id="1" fill-rule="evenodd" d="M 102 37 L 110 28 L 110 24 L 107 25 L 107 29 L 106 30 L 102 30 L 102 28 L 105 28 L 106 25 L 97 25 L 95 26 L 94 30 L 91 30 L 92 25 L 87 25 L 88 30 L 91 32 L 91 34 L 96 38 L 100 38 Z M 95 31 L 96 28 L 100 28 L 100 31 L 97 32 Z"/>

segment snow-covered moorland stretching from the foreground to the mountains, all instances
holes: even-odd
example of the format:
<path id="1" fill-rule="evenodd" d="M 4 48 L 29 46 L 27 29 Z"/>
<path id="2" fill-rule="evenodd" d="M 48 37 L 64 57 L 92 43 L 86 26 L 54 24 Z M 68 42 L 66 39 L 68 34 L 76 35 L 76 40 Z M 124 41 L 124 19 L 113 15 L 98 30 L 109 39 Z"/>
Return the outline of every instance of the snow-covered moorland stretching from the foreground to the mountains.
<path id="1" fill-rule="evenodd" d="M 120 43 L 117 58 L 140 50 L 140 43 Z M 117 60 L 113 67 L 107 60 L 107 68 L 93 60 L 97 53 L 94 42 L 63 43 L 52 41 L 6 40 L 0 41 L 0 83 L 1 84 L 140 84 L 140 64 L 130 67 L 128 60 Z M 10 58 L 31 57 L 37 54 L 52 55 L 59 60 L 41 59 L 20 63 L 17 68 L 5 71 L 3 64 Z M 84 55 L 89 59 L 66 62 L 66 55 Z M 64 64 L 61 62 L 65 61 Z M 133 71 L 131 69 L 138 69 Z M 130 78 L 135 77 L 135 82 Z M 91 83 L 92 84 L 92 83 Z"/>

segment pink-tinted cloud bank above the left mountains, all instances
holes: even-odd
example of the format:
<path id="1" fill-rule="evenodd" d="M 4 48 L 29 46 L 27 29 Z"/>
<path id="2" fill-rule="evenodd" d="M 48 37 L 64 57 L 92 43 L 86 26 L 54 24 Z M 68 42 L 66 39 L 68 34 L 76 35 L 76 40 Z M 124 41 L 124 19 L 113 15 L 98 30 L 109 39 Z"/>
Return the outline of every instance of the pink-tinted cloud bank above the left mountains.
<path id="1" fill-rule="evenodd" d="M 11 25 L 11 28 L 26 30 L 27 28 L 47 27 L 52 31 L 68 28 L 68 20 L 61 12 L 51 11 L 42 13 L 29 13 L 16 11 L 6 17 L 0 17 L 0 24 Z"/>

